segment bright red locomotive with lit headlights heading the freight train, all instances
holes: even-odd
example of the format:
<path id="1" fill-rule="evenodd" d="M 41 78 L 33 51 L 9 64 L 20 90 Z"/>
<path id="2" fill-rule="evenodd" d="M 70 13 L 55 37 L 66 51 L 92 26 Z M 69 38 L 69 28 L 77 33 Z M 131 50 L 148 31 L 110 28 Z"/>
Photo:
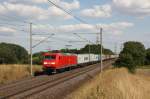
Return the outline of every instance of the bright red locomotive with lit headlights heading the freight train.
<path id="1" fill-rule="evenodd" d="M 77 65 L 77 56 L 62 53 L 44 53 L 43 69 L 56 71 Z"/>

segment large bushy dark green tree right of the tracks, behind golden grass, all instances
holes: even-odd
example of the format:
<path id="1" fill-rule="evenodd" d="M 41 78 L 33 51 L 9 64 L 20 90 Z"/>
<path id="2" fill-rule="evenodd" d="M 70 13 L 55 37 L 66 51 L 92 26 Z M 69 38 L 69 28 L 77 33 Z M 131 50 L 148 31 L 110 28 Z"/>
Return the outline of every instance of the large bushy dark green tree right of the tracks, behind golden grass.
<path id="1" fill-rule="evenodd" d="M 129 41 L 124 43 L 123 51 L 115 62 L 116 67 L 127 67 L 134 71 L 136 66 L 142 66 L 145 62 L 145 47 L 140 42 Z"/>

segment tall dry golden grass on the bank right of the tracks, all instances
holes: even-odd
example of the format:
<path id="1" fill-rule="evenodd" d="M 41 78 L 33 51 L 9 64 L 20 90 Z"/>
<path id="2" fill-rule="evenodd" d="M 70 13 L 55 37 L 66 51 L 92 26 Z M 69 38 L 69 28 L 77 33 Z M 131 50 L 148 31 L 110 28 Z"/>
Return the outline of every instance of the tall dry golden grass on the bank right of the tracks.
<path id="1" fill-rule="evenodd" d="M 68 99 L 150 99 L 150 69 L 130 74 L 125 68 L 110 69 L 87 82 Z"/>

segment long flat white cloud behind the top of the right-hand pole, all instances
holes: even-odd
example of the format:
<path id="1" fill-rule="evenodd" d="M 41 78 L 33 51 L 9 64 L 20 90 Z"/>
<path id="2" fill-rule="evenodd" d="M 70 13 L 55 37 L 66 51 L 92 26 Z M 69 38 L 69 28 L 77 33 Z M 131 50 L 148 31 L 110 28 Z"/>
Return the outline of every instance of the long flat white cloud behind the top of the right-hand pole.
<path id="1" fill-rule="evenodd" d="M 123 31 L 129 27 L 132 27 L 134 24 L 129 22 L 116 22 L 111 24 L 75 24 L 75 25 L 64 25 L 59 26 L 58 29 L 63 32 L 97 32 L 99 31 L 96 26 L 102 27 L 104 33 L 112 34 L 112 35 L 120 35 Z"/>

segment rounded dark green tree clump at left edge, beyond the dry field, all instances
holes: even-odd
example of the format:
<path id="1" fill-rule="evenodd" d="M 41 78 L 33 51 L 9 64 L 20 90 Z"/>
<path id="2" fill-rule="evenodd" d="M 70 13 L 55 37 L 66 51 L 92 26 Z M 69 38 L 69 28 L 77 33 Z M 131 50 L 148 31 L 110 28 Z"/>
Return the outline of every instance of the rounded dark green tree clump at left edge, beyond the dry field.
<path id="1" fill-rule="evenodd" d="M 0 63 L 28 63 L 28 52 L 25 48 L 9 43 L 0 43 Z"/>

